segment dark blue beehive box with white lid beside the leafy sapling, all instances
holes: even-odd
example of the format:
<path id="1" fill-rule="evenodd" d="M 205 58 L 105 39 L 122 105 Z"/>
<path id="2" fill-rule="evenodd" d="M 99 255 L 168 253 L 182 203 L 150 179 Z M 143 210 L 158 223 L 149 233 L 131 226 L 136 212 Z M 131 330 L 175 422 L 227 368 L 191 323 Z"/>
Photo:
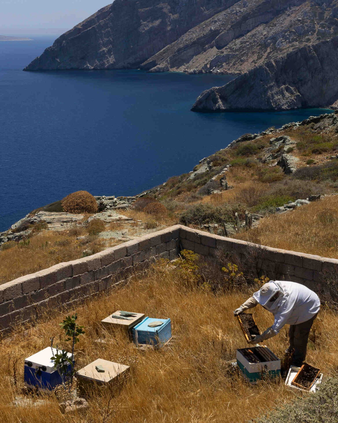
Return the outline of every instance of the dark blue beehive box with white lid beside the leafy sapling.
<path id="1" fill-rule="evenodd" d="M 52 390 L 57 385 L 62 384 L 61 376 L 54 368 L 52 355 L 56 354 L 56 349 L 50 347 L 27 357 L 24 368 L 24 381 L 28 387 L 38 388 L 39 390 Z M 71 353 L 68 353 L 71 358 Z M 68 365 L 68 371 L 71 371 L 71 364 Z"/>

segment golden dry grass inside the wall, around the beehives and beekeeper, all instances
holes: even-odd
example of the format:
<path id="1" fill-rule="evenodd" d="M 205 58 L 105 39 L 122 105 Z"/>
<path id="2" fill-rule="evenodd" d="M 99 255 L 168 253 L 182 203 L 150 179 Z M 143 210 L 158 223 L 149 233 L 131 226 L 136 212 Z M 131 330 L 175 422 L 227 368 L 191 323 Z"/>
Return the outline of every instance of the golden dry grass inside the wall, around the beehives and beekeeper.
<path id="1" fill-rule="evenodd" d="M 131 376 L 120 395 L 112 398 L 106 391 L 103 396 L 93 396 L 82 414 L 74 412 L 66 417 L 54 397 L 46 399 L 48 404 L 42 407 L 14 408 L 11 404 L 23 388 L 25 357 L 48 346 L 51 336 L 55 336 L 59 346 L 69 349 L 67 343 L 60 341 L 58 323 L 64 314 L 55 312 L 54 317 L 26 330 L 17 327 L 10 338 L 0 343 L 1 422 L 244 423 L 275 404 L 288 402 L 301 394 L 286 389 L 283 381 L 251 386 L 229 370 L 227 361 L 235 357 L 237 348 L 247 346 L 232 310 L 248 294 L 214 296 L 210 292 L 186 291 L 175 271 L 156 271 L 143 279 L 135 278 L 128 286 L 101 299 L 88 301 L 83 307 L 68 310 L 67 313 L 77 311 L 79 324 L 86 327 L 77 346 L 77 368 L 100 357 L 131 365 Z M 103 335 L 99 322 L 116 309 L 170 317 L 175 343 L 161 351 L 141 352 L 119 332 L 104 334 L 111 343 L 96 343 L 94 340 Z M 271 314 L 263 308 L 257 307 L 254 316 L 262 329 L 272 323 Z M 325 375 L 333 375 L 337 371 L 336 316 L 329 310 L 322 311 L 315 330 L 316 344 L 310 341 L 307 361 L 322 368 Z M 313 341 L 313 332 L 310 339 Z M 287 346 L 286 329 L 266 344 L 281 357 Z M 111 414 L 104 420 L 110 398 Z"/>

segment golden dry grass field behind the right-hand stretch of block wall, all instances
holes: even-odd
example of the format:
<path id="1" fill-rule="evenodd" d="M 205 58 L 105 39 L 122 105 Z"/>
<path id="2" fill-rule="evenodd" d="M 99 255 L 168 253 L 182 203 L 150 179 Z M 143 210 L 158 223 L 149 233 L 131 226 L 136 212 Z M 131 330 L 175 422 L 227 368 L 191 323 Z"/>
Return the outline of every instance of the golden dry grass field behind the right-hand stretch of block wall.
<path id="1" fill-rule="evenodd" d="M 338 196 L 260 220 L 258 228 L 234 236 L 284 250 L 338 258 Z"/>

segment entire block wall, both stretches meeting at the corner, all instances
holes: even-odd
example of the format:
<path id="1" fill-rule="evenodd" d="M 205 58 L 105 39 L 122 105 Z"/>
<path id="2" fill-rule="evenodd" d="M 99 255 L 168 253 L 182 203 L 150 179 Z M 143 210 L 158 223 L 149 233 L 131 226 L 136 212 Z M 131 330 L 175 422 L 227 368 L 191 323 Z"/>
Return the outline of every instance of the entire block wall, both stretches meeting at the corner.
<path id="1" fill-rule="evenodd" d="M 237 239 L 175 225 L 101 253 L 60 263 L 0 285 L 0 331 L 38 317 L 47 308 L 72 305 L 111 289 L 158 258 L 173 260 L 180 249 L 215 256 L 223 249 L 239 260 L 254 255 L 253 245 Z M 337 278 L 338 260 L 318 255 L 256 246 L 255 266 L 270 279 L 292 280 L 318 291 Z"/>

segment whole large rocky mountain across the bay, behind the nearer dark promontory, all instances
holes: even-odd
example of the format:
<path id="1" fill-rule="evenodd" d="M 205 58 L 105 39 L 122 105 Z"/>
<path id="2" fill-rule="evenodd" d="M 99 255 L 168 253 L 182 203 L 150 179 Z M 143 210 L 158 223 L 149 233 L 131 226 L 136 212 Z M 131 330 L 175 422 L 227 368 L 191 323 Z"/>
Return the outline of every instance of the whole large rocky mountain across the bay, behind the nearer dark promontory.
<path id="1" fill-rule="evenodd" d="M 115 0 L 25 70 L 243 74 L 338 35 L 338 0 Z"/>

